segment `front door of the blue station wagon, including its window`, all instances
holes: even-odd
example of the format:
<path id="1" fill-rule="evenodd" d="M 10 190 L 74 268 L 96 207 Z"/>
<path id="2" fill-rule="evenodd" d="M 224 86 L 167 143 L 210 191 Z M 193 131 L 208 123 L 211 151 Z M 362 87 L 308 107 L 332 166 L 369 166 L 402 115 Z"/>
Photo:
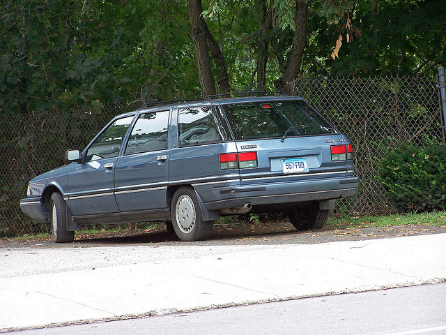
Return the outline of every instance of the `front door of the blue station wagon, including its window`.
<path id="1" fill-rule="evenodd" d="M 114 197 L 114 169 L 134 115 L 112 121 L 86 149 L 84 161 L 68 176 L 67 203 L 73 215 L 118 212 Z"/>

